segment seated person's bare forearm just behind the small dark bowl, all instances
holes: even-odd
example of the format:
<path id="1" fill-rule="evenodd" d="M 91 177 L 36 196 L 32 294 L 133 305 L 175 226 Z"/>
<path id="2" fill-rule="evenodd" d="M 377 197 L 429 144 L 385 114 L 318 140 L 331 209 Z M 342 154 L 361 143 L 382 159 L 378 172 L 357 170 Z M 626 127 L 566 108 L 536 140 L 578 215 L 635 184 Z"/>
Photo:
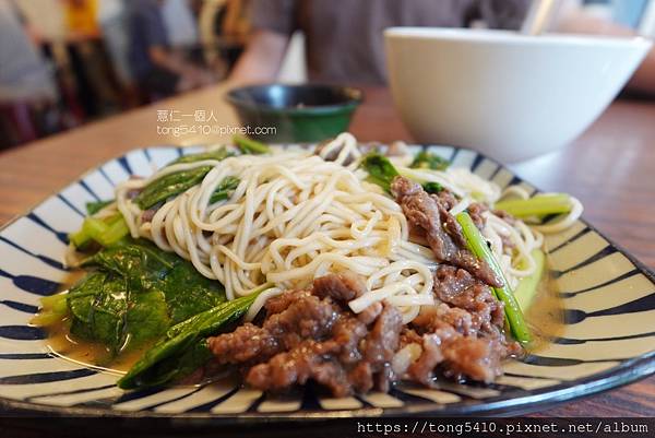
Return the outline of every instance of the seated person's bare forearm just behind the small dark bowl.
<path id="1" fill-rule="evenodd" d="M 273 31 L 255 31 L 229 75 L 229 81 L 239 84 L 275 81 L 288 44 L 289 37 L 286 35 Z"/>

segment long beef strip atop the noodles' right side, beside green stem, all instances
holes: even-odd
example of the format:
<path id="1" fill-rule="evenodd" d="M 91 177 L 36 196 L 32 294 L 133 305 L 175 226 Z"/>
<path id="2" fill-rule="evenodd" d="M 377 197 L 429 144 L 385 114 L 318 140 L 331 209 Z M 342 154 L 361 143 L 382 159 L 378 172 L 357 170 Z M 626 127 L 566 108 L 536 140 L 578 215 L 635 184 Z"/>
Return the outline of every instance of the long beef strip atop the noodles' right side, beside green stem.
<path id="1" fill-rule="evenodd" d="M 490 286 L 502 286 L 502 280 L 489 265 L 477 260 L 466 248 L 462 227 L 441 204 L 439 197 L 431 197 L 420 185 L 402 176 L 394 178 L 391 192 L 403 208 L 407 221 L 425 233 L 438 261 L 463 268 Z"/>

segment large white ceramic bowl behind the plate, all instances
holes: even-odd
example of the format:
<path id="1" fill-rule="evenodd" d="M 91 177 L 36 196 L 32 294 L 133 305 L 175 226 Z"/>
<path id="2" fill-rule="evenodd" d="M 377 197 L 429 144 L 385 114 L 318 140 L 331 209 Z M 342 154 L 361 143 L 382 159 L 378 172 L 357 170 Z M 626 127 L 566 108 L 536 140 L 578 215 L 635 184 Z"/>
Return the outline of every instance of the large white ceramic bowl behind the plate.
<path id="1" fill-rule="evenodd" d="M 517 162 L 564 146 L 609 105 L 647 39 L 507 31 L 384 32 L 393 98 L 418 142 Z"/>

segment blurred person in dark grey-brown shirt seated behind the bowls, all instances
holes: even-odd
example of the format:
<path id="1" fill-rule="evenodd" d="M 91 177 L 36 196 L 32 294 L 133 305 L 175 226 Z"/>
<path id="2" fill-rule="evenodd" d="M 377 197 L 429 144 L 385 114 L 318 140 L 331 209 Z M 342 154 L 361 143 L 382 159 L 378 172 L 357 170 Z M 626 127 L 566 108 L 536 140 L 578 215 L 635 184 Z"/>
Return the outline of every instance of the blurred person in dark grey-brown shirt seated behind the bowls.
<path id="1" fill-rule="evenodd" d="M 565 3 L 565 2 L 564 2 Z M 592 17 L 570 2 L 556 31 L 633 35 L 634 31 Z M 311 81 L 384 84 L 383 29 L 391 26 L 485 27 L 519 29 L 531 0 L 252 0 L 252 35 L 230 80 L 274 81 L 290 36 L 306 37 Z M 655 50 L 646 57 L 630 86 L 655 93 Z"/>

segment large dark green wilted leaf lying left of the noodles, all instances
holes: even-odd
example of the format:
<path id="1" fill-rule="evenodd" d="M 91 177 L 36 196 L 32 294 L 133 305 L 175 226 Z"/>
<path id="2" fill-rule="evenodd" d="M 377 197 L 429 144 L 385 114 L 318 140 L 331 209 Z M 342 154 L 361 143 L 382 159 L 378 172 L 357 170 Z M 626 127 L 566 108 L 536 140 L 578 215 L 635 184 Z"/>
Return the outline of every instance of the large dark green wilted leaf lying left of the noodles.
<path id="1" fill-rule="evenodd" d="M 71 332 L 111 355 L 162 336 L 171 324 L 225 301 L 223 286 L 175 253 L 128 240 L 88 258 L 94 269 L 68 297 Z"/>

